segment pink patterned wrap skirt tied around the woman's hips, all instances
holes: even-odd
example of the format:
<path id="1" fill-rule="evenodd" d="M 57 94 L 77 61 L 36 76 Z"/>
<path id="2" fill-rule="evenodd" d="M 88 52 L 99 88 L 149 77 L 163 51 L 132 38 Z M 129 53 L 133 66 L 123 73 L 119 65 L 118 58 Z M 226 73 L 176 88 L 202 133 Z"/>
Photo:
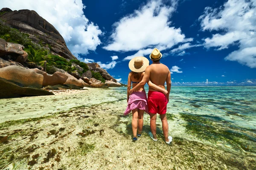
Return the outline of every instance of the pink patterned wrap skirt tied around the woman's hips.
<path id="1" fill-rule="evenodd" d="M 148 113 L 148 99 L 145 91 L 134 91 L 129 98 L 124 115 L 131 113 L 136 108 Z M 148 113 L 149 114 L 149 113 Z"/>

